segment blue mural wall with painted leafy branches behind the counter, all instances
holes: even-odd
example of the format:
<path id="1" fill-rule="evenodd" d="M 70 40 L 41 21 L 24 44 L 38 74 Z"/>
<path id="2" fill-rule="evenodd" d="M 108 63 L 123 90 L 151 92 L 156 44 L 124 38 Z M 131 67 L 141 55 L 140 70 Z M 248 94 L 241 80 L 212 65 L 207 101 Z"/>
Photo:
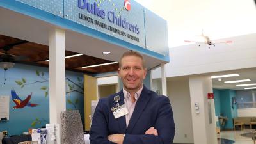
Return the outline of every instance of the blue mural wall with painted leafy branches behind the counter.
<path id="1" fill-rule="evenodd" d="M 66 93 L 70 93 L 63 96 L 63 99 L 67 100 L 66 108 L 79 109 L 84 122 L 83 74 L 66 71 L 66 77 L 70 79 L 66 79 Z M 15 90 L 22 100 L 32 93 L 30 101 L 31 103 L 38 104 L 38 106 L 13 109 L 15 103 L 11 97 L 11 90 Z M 10 95 L 10 120 L 0 122 L 0 131 L 7 130 L 9 135 L 15 135 L 28 131 L 29 128 L 42 127 L 48 124 L 48 90 L 48 68 L 15 64 L 13 68 L 6 72 L 6 84 L 4 84 L 4 70 L 0 69 L 0 95 Z"/>

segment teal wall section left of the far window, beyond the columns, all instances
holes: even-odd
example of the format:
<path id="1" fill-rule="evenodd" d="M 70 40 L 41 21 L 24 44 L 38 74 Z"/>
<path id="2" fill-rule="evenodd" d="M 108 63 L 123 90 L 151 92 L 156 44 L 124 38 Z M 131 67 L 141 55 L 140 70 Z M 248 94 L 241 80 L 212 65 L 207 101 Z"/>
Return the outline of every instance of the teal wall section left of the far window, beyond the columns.
<path id="1" fill-rule="evenodd" d="M 228 118 L 225 127 L 221 127 L 221 129 L 233 129 L 233 118 L 237 117 L 237 106 L 234 105 L 232 108 L 232 97 L 236 97 L 236 91 L 214 89 L 213 92 L 216 116 Z"/>

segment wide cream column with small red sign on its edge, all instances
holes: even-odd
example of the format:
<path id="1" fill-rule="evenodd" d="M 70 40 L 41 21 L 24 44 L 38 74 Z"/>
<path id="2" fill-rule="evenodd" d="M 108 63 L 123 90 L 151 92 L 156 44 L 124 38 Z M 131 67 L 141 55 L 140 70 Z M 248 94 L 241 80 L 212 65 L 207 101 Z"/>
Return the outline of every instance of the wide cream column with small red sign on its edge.
<path id="1" fill-rule="evenodd" d="M 216 144 L 217 136 L 214 99 L 207 99 L 207 93 L 212 93 L 211 77 L 189 77 L 189 90 L 194 143 Z M 199 113 L 196 113 L 196 103 L 199 105 Z M 211 118 L 211 122 L 209 118 Z"/>

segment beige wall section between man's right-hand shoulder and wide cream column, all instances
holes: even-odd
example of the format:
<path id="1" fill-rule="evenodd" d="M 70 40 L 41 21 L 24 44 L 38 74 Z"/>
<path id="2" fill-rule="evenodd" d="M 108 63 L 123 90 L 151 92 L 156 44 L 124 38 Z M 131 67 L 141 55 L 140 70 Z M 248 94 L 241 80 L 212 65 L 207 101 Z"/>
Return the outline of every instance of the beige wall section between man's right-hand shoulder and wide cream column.
<path id="1" fill-rule="evenodd" d="M 168 79 L 167 95 L 176 127 L 173 143 L 194 143 L 188 78 Z"/>

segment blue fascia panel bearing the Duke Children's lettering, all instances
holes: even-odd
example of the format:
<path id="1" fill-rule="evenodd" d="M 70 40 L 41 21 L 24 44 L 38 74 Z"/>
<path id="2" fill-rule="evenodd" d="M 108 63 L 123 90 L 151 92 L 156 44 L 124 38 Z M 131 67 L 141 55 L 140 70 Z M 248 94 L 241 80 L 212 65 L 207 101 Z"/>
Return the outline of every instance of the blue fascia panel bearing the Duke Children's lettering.
<path id="1" fill-rule="evenodd" d="M 143 7 L 127 0 L 65 0 L 64 17 L 145 47 Z"/>

